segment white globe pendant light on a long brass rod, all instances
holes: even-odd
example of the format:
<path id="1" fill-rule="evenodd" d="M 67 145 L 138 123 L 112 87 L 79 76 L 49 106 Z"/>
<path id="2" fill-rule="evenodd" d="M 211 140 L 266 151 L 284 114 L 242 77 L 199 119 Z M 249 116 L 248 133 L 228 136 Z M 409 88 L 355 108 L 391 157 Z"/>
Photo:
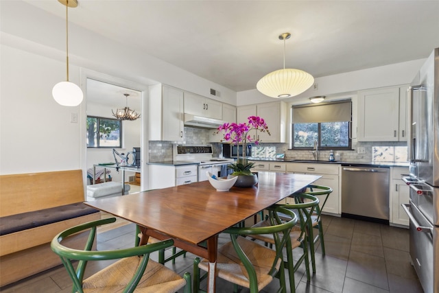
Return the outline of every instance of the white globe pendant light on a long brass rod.
<path id="1" fill-rule="evenodd" d="M 58 0 L 66 6 L 66 63 L 67 63 L 67 81 L 58 82 L 52 89 L 52 95 L 55 101 L 61 106 L 78 106 L 81 104 L 84 95 L 80 87 L 73 82 L 69 82 L 69 7 L 78 6 L 77 0 Z"/>

